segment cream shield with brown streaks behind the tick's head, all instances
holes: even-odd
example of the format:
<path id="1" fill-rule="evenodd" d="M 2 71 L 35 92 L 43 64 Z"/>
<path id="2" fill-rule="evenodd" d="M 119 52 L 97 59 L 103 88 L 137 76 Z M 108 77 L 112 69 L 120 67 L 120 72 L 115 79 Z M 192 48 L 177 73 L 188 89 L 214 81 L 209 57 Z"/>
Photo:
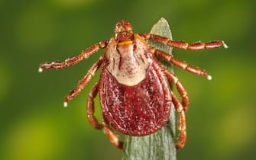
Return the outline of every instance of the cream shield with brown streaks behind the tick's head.
<path id="1" fill-rule="evenodd" d="M 146 77 L 147 68 L 152 61 L 150 53 L 145 53 L 148 47 L 137 34 L 134 34 L 134 42 L 125 41 L 118 44 L 114 38 L 110 40 L 105 50 L 105 57 L 109 59 L 107 69 L 118 83 L 134 86 Z"/>

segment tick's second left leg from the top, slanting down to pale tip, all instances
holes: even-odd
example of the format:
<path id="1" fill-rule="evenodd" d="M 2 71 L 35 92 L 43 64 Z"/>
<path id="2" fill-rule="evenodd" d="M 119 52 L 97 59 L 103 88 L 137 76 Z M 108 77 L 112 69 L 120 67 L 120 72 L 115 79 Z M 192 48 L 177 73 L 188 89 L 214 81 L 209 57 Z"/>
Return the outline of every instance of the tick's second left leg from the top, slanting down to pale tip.
<path id="1" fill-rule="evenodd" d="M 75 98 L 83 90 L 83 88 L 85 88 L 85 86 L 91 80 L 92 75 L 94 75 L 96 73 L 96 71 L 99 69 L 99 67 L 101 66 L 102 61 L 103 61 L 103 59 L 101 56 L 101 57 L 99 57 L 99 60 L 93 64 L 92 68 L 89 69 L 86 76 L 84 76 L 83 79 L 78 82 L 78 85 L 76 86 L 76 88 L 73 89 L 72 91 L 70 91 L 70 93 L 66 95 L 66 97 L 64 98 L 64 107 L 67 106 L 68 101 Z"/>

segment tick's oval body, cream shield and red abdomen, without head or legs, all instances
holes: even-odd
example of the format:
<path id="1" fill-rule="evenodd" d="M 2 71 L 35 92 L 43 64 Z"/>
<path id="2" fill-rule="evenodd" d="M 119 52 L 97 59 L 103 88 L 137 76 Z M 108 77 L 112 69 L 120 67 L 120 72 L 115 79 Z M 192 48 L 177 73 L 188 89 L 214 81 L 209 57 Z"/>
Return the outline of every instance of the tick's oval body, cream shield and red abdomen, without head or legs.
<path id="1" fill-rule="evenodd" d="M 138 35 L 110 40 L 99 82 L 105 120 L 131 136 L 154 133 L 170 116 L 170 87 L 164 69 Z"/>

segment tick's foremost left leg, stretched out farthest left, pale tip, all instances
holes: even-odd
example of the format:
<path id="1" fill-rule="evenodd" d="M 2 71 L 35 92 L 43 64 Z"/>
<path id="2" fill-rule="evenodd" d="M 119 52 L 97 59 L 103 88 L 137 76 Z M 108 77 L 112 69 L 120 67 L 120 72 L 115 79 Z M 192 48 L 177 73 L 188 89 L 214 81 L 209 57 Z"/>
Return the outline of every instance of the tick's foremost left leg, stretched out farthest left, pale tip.
<path id="1" fill-rule="evenodd" d="M 43 72 L 45 69 L 63 69 L 66 66 L 72 66 L 77 62 L 80 62 L 83 59 L 87 59 L 93 53 L 96 53 L 100 48 L 105 48 L 109 41 L 102 41 L 98 44 L 95 44 L 89 47 L 86 50 L 83 50 L 78 56 L 74 56 L 72 58 L 66 59 L 64 62 L 53 61 L 53 62 L 45 62 L 39 66 L 38 72 Z"/>

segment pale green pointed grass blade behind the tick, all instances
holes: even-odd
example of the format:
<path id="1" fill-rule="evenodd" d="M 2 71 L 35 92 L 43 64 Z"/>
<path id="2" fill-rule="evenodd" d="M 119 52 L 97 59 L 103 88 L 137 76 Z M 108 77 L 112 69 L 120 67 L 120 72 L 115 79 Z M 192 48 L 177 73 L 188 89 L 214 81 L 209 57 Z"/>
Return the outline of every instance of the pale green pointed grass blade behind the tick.
<path id="1" fill-rule="evenodd" d="M 151 29 L 151 34 L 158 34 L 172 39 L 170 27 L 164 18 L 160 18 L 157 24 Z M 151 46 L 167 53 L 172 52 L 172 48 L 163 44 L 149 40 Z M 160 60 L 160 59 L 159 59 Z M 170 63 L 160 60 L 160 63 L 173 72 Z M 175 148 L 175 108 L 171 107 L 170 119 L 168 123 L 156 133 L 149 136 L 125 136 L 123 160 L 176 160 Z"/>

